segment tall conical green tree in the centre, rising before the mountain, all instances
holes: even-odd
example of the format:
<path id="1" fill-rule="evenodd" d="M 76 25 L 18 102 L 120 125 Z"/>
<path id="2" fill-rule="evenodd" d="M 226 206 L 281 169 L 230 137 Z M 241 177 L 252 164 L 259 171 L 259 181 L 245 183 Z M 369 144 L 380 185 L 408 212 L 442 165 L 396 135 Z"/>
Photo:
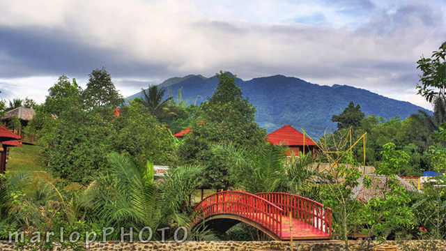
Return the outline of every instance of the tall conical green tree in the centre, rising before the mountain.
<path id="1" fill-rule="evenodd" d="M 206 166 L 204 180 L 213 188 L 229 188 L 229 166 L 221 156 L 212 152 L 217 144 L 232 144 L 255 151 L 266 144 L 266 131 L 255 122 L 255 107 L 244 98 L 231 73 L 217 75 L 216 91 L 201 103 L 201 112 L 190 127 L 192 132 L 178 147 L 180 160 Z"/>

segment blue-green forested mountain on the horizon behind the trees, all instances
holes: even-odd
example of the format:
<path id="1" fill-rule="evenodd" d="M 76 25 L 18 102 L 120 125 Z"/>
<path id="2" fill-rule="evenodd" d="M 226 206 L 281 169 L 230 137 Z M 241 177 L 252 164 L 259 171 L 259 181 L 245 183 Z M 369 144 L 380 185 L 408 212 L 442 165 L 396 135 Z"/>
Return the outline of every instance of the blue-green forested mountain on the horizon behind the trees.
<path id="1" fill-rule="evenodd" d="M 167 79 L 160 86 L 169 89 L 174 97 L 178 89 L 182 89 L 183 100 L 199 105 L 212 96 L 217 83 L 217 76 L 187 75 Z M 325 129 L 336 128 L 336 123 L 331 121 L 332 115 L 341 113 L 350 101 L 359 103 L 366 116 L 371 114 L 385 119 L 394 116 L 405 119 L 419 109 L 431 113 L 410 102 L 394 100 L 364 89 L 339 84 L 320 86 L 283 75 L 247 81 L 237 78 L 236 84 L 243 95 L 256 105 L 256 120 L 268 132 L 291 125 L 297 129 L 303 128 L 310 135 L 321 135 Z M 141 97 L 141 93 L 127 99 L 135 97 Z"/>

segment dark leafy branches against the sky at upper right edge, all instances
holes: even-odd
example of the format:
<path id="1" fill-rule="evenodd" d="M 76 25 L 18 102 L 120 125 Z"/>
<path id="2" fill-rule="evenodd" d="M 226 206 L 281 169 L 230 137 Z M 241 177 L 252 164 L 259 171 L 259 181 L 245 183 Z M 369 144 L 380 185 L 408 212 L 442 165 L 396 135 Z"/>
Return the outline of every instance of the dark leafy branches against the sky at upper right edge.
<path id="1" fill-rule="evenodd" d="M 432 53 L 431 58 L 422 58 L 417 61 L 417 69 L 422 71 L 420 75 L 421 84 L 417 84 L 418 94 L 426 98 L 427 101 L 439 96 L 445 100 L 446 91 L 446 42 L 438 51 Z"/>

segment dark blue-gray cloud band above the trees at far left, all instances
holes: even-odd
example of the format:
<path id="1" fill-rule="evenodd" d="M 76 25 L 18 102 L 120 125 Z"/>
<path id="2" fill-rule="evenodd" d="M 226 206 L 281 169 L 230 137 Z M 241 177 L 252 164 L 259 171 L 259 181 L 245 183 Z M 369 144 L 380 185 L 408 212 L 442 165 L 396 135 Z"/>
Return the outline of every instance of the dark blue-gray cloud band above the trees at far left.
<path id="1" fill-rule="evenodd" d="M 75 34 L 59 29 L 12 29 L 0 26 L 0 38 L 4 38 L 0 39 L 1 77 L 86 77 L 92 70 L 102 66 L 119 77 L 169 75 L 165 70 L 167 66 L 125 59 L 125 55 L 119 51 L 85 45 L 76 39 Z"/>

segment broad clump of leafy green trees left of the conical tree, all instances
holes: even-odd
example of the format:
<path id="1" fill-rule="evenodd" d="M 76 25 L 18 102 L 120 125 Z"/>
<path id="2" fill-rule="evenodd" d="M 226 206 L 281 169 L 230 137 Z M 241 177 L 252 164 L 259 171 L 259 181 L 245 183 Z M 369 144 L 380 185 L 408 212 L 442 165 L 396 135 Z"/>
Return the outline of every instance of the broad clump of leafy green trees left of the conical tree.
<path id="1" fill-rule="evenodd" d="M 121 98 L 111 85 L 102 69 L 93 71 L 85 91 L 65 76 L 49 89 L 26 131 L 47 146 L 45 163 L 54 174 L 84 183 L 87 176 L 109 169 L 105 156 L 112 151 L 130 153 L 140 164 L 149 159 L 169 164 L 169 132 L 139 104 L 122 105 L 118 116 Z"/>

